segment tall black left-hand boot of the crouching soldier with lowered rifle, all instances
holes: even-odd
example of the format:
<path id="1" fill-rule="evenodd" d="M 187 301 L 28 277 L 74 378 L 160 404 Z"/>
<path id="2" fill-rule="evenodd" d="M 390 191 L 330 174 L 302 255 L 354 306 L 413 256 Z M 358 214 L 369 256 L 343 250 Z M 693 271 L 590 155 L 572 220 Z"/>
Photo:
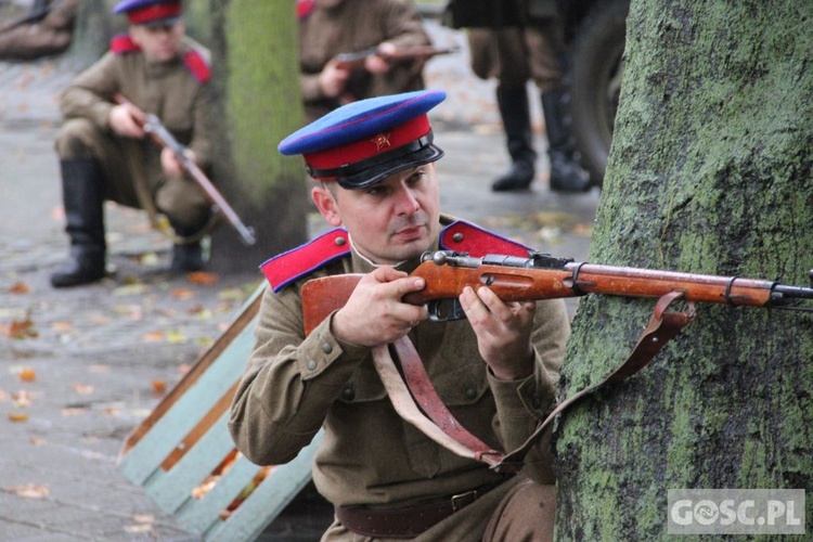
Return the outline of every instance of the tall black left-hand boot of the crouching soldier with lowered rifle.
<path id="1" fill-rule="evenodd" d="M 93 158 L 60 163 L 65 231 L 70 237 L 70 260 L 51 275 L 56 288 L 96 282 L 105 275 L 103 173 Z"/>

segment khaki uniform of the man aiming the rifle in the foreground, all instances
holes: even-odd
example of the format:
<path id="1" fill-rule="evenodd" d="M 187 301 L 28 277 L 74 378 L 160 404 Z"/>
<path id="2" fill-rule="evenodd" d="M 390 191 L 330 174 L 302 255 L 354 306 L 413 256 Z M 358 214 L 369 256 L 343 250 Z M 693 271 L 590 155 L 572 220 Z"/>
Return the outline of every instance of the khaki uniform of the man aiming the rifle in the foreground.
<path id="1" fill-rule="evenodd" d="M 417 263 L 408 261 L 399 269 L 410 271 Z M 493 483 L 501 475 L 446 450 L 399 417 L 373 367 L 371 350 L 337 340 L 330 318 L 304 337 L 305 282 L 372 270 L 351 251 L 276 294 L 264 294 L 256 346 L 229 423 L 237 448 L 255 463 L 282 464 L 324 428 L 313 480 L 328 501 L 343 506 L 403 508 Z M 502 382 L 488 371 L 466 320 L 425 321 L 409 335 L 453 415 L 489 446 L 508 451 L 551 410 L 568 336 L 564 302 L 539 301 L 534 373 Z M 534 457 L 538 463 L 532 462 L 528 474 L 552 483 L 550 457 Z M 520 480 L 522 476 L 503 482 L 421 540 L 480 540 L 502 498 L 516 491 Z M 325 539 L 362 540 L 354 537 L 336 522 Z"/>

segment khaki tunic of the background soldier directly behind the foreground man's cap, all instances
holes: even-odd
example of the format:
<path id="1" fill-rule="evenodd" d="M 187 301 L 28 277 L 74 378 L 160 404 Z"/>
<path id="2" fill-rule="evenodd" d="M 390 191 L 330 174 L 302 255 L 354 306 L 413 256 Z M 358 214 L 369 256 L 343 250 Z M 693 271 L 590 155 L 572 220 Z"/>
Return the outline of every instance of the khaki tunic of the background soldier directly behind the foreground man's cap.
<path id="1" fill-rule="evenodd" d="M 414 7 L 405 0 L 344 0 L 337 8 L 314 8 L 299 21 L 300 82 L 308 120 L 314 120 L 348 101 L 424 88 L 423 63 L 400 61 L 386 74 L 354 70 L 340 99 L 326 98 L 319 74 L 340 53 L 377 47 L 383 41 L 398 47 L 431 42 Z"/>

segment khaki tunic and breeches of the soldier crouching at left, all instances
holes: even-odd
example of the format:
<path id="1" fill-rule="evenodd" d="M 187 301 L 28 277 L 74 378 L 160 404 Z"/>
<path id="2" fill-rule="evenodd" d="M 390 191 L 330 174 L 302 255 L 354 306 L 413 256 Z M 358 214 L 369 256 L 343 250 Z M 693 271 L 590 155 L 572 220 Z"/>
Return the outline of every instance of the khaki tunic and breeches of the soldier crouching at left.
<path id="1" fill-rule="evenodd" d="M 99 160 L 105 199 L 144 208 L 137 191 L 140 183 L 158 211 L 176 224 L 194 229 L 205 224 L 210 212 L 203 191 L 191 179 L 167 178 L 159 150 L 147 138 L 122 138 L 108 125 L 113 95 L 121 93 L 143 112 L 157 115 L 205 168 L 211 154 L 212 104 L 209 86 L 184 62 L 192 48 L 208 59 L 208 51 L 184 38 L 175 61 L 150 64 L 137 51 L 108 52 L 79 74 L 62 94 L 65 122 L 56 137 L 56 152 L 63 160 Z"/>

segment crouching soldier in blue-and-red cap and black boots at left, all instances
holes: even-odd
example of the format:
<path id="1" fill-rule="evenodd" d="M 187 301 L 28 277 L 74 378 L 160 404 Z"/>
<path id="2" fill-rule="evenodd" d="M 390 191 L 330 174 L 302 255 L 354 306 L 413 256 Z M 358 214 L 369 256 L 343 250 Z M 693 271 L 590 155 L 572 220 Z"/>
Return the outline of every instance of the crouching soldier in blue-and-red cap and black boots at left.
<path id="1" fill-rule="evenodd" d="M 62 95 L 65 124 L 56 137 L 70 259 L 51 275 L 55 287 L 105 275 L 103 203 L 164 215 L 175 231 L 171 269 L 197 271 L 205 261 L 201 238 L 212 221 L 203 190 L 184 176 L 183 160 L 145 137 L 154 114 L 206 168 L 211 147 L 209 53 L 185 36 L 180 0 L 125 0 L 129 33 L 81 73 Z M 127 99 L 115 103 L 115 96 Z"/>

